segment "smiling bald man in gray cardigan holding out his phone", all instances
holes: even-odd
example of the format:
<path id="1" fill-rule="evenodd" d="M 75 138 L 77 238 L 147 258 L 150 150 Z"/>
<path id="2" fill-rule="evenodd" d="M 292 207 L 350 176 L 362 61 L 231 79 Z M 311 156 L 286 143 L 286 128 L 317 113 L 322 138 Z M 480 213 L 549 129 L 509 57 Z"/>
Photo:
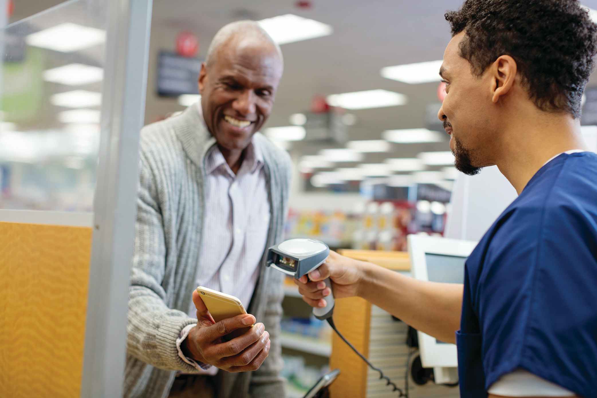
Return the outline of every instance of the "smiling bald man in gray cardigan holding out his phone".
<path id="1" fill-rule="evenodd" d="M 282 53 L 254 21 L 224 26 L 199 75 L 201 102 L 141 131 L 125 397 L 283 397 L 282 237 L 291 161 L 258 133 Z M 215 323 L 195 288 L 249 315 Z M 253 325 L 244 335 L 223 337 Z"/>

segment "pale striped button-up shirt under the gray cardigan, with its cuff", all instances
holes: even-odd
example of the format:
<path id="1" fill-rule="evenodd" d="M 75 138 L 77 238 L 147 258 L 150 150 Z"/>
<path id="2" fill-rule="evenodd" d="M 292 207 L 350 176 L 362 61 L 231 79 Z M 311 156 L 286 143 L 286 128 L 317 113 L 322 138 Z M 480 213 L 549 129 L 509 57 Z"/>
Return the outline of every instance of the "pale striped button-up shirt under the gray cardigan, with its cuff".
<path id="1" fill-rule="evenodd" d="M 202 116 L 201 104 L 198 104 Z M 234 174 L 217 146 L 205 158 L 205 220 L 196 285 L 236 296 L 248 308 L 259 277 L 259 263 L 265 249 L 270 221 L 263 155 L 250 143 L 237 174 Z M 189 308 L 196 316 L 196 308 Z M 183 329 L 180 343 L 192 326 Z M 209 368 L 201 366 L 202 369 Z M 208 369 L 216 374 L 217 368 Z"/>

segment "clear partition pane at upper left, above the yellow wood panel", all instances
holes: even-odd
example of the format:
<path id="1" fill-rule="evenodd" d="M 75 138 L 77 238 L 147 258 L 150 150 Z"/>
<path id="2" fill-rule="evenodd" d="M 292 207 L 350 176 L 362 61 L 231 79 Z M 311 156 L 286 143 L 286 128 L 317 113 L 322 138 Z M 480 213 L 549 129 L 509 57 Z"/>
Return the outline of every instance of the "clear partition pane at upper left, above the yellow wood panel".
<path id="1" fill-rule="evenodd" d="M 67 1 L 2 29 L 0 209 L 93 211 L 107 4 Z"/>

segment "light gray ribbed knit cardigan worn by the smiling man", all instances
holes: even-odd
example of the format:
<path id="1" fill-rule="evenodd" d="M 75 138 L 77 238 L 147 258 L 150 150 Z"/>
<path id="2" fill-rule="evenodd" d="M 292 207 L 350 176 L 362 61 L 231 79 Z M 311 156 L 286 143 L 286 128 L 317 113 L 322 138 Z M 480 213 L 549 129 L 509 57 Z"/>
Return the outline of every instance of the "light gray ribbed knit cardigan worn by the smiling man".
<path id="1" fill-rule="evenodd" d="M 176 371 L 196 372 L 180 359 L 176 339 L 196 288 L 204 204 L 205 153 L 216 140 L 196 104 L 181 115 L 144 127 L 133 270 L 128 301 L 125 397 L 167 397 Z M 264 158 L 271 218 L 267 247 L 282 237 L 290 189 L 290 156 L 263 135 L 254 135 Z M 208 232 L 207 232 L 208 233 Z M 280 318 L 283 274 L 261 261 L 247 309 L 271 336 L 269 357 L 255 372 L 216 376 L 219 398 L 284 397 Z"/>

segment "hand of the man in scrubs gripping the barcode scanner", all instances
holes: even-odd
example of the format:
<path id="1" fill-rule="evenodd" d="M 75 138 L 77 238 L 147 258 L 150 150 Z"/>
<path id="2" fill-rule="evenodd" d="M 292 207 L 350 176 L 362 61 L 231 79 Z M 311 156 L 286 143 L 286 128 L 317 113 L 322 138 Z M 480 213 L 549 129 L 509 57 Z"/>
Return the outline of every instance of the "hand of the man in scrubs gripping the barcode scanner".
<path id="1" fill-rule="evenodd" d="M 331 279 L 334 298 L 356 296 L 362 280 L 362 261 L 330 251 L 325 263 L 309 273 L 309 279 L 306 275 L 294 279 L 294 283 L 298 285 L 298 292 L 310 306 L 325 307 L 323 298 L 331 293 L 330 288 L 326 288 L 323 282 L 327 277 Z"/>

